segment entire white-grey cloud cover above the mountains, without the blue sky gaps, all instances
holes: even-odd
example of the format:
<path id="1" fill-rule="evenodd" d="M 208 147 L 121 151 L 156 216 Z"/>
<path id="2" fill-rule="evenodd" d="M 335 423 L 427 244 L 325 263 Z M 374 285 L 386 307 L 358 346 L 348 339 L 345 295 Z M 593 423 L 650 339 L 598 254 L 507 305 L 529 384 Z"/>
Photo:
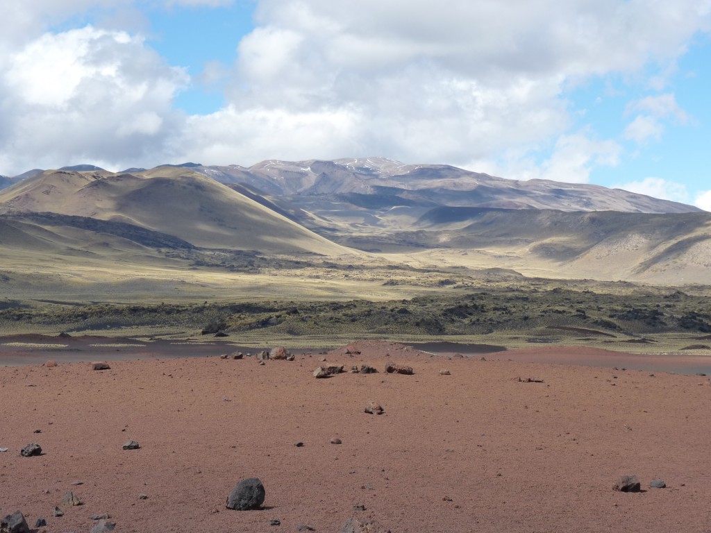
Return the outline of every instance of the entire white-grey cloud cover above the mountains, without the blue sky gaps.
<path id="1" fill-rule="evenodd" d="M 139 34 L 48 33 L 51 23 L 90 7 L 137 9 L 137 0 L 6 4 L 4 173 L 80 158 L 134 166 L 383 155 L 490 161 L 522 178 L 588 181 L 595 166 L 616 164 L 620 149 L 570 131 L 567 88 L 668 64 L 711 17 L 711 0 L 257 0 L 257 27 L 235 42 L 233 68 L 208 65 L 194 80 L 226 85 L 225 107 L 183 117 L 172 101 L 188 78 Z M 673 95 L 640 100 L 628 112 L 634 119 L 625 136 L 639 142 L 661 136 L 663 121 L 684 119 Z M 550 158 L 532 163 L 550 146 Z"/>

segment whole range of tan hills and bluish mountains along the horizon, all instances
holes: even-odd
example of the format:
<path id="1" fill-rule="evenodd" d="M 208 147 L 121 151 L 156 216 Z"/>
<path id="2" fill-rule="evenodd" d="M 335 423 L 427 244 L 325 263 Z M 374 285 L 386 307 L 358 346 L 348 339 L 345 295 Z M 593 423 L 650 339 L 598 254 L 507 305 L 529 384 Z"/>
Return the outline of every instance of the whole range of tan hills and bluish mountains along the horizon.
<path id="1" fill-rule="evenodd" d="M 561 278 L 711 279 L 711 213 L 598 185 L 513 181 L 385 158 L 121 173 L 80 165 L 34 169 L 0 178 L 3 184 L 0 254 L 365 254 Z M 89 252 L 87 242 L 104 248 Z"/>

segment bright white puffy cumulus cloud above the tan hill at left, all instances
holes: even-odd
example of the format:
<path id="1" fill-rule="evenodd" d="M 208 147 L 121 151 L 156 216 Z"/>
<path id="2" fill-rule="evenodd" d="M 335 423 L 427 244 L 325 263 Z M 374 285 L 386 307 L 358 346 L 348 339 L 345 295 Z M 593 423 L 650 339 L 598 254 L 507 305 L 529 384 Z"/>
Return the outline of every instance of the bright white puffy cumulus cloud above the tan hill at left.
<path id="1" fill-rule="evenodd" d="M 0 166 L 152 162 L 181 124 L 171 103 L 185 83 L 128 33 L 46 33 L 0 74 Z"/>

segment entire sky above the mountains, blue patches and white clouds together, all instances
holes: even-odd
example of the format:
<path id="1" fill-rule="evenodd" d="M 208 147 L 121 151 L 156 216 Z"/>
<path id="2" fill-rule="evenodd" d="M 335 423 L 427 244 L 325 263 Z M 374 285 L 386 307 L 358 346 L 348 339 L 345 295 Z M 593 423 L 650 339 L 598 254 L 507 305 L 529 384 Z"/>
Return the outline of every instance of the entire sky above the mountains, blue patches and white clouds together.
<path id="1" fill-rule="evenodd" d="M 711 210 L 711 0 L 23 0 L 0 174 L 383 156 Z"/>

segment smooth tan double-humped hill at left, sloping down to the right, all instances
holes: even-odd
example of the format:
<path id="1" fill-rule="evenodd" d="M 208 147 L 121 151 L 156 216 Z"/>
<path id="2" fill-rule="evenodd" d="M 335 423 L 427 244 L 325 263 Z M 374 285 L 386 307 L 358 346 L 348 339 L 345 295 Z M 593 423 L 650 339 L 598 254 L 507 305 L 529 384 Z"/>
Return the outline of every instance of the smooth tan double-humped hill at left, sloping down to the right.
<path id="1" fill-rule="evenodd" d="M 9 212 L 57 212 L 115 220 L 198 247 L 272 253 L 353 253 L 186 168 L 141 174 L 46 171 L 0 193 Z"/>

